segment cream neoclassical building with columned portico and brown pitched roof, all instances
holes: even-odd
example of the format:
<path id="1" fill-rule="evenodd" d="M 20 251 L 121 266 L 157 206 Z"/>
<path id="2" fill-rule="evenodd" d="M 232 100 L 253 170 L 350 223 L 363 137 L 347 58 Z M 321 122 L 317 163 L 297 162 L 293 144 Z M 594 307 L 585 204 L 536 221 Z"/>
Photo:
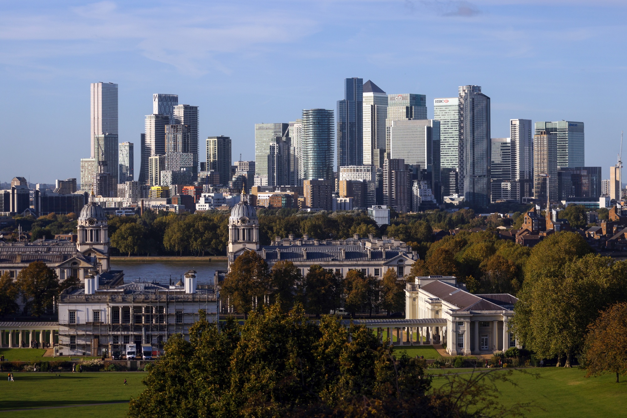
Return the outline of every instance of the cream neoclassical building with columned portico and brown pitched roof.
<path id="1" fill-rule="evenodd" d="M 416 277 L 405 288 L 406 318 L 441 321 L 441 328 L 434 323 L 428 335 L 441 335 L 450 355 L 490 354 L 516 347 L 507 323 L 517 301 L 508 293 L 473 295 L 454 276 Z"/>

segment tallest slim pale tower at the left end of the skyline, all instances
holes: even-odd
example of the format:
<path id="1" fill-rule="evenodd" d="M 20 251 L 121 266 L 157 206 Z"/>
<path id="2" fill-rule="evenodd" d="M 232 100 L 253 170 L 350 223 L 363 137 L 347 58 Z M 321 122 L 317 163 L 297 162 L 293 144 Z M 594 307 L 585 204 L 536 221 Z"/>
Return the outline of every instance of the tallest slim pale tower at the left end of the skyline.
<path id="1" fill-rule="evenodd" d="M 118 85 L 102 82 L 92 83 L 91 97 L 90 141 L 92 158 L 95 158 L 95 138 L 105 133 L 115 135 L 116 138 L 118 135 Z M 115 149 L 117 151 L 117 144 Z"/>

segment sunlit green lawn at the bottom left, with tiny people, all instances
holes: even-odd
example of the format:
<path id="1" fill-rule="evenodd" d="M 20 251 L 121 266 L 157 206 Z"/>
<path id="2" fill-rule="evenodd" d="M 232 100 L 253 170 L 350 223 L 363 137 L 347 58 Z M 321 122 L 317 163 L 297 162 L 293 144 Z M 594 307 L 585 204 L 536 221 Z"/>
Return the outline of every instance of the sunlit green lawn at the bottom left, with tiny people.
<path id="1" fill-rule="evenodd" d="M 144 372 L 14 373 L 14 382 L 6 375 L 0 379 L 0 413 L 6 409 L 98 404 L 129 400 L 143 389 Z M 128 385 L 124 385 L 127 379 Z M 19 417 L 123 417 L 128 404 L 98 405 L 58 409 L 23 410 L 5 413 Z"/>

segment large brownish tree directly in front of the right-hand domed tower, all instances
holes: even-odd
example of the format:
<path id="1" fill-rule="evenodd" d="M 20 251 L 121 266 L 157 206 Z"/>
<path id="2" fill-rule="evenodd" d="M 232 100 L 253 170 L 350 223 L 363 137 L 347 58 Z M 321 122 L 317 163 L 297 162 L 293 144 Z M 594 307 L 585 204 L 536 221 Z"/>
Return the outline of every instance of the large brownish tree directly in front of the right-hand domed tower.
<path id="1" fill-rule="evenodd" d="M 246 318 L 256 307 L 253 303 L 259 303 L 259 298 L 268 295 L 269 285 L 270 274 L 265 259 L 255 251 L 245 251 L 231 264 L 231 271 L 224 278 L 222 293 L 228 298 L 228 303 Z"/>

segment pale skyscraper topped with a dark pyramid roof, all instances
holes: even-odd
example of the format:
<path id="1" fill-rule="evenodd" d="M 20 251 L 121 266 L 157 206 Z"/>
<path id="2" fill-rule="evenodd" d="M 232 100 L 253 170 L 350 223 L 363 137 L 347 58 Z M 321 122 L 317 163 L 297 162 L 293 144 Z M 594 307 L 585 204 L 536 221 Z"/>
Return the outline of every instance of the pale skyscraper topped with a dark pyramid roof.
<path id="1" fill-rule="evenodd" d="M 386 149 L 387 94 L 368 80 L 364 83 L 364 165 L 381 168 L 380 150 Z"/>

